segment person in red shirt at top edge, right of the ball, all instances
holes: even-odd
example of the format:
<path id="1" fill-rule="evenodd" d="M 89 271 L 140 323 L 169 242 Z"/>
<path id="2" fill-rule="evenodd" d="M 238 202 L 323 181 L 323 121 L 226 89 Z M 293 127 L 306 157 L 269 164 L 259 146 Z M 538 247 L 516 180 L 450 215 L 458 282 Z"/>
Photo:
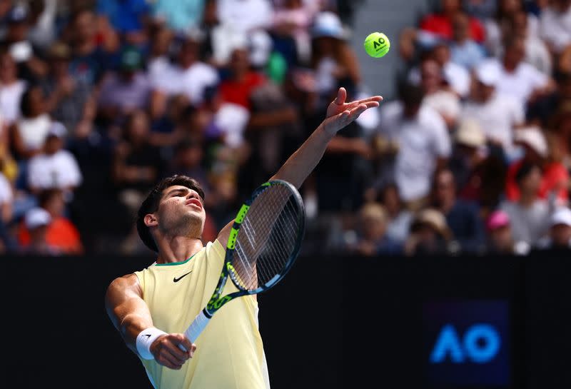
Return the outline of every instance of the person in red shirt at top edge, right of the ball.
<path id="1" fill-rule="evenodd" d="M 420 30 L 436 35 L 442 39 L 453 38 L 453 18 L 461 11 L 460 0 L 440 1 L 440 11 L 426 15 L 420 21 Z M 470 17 L 468 29 L 470 39 L 482 44 L 485 39 L 485 31 L 476 18 Z"/>

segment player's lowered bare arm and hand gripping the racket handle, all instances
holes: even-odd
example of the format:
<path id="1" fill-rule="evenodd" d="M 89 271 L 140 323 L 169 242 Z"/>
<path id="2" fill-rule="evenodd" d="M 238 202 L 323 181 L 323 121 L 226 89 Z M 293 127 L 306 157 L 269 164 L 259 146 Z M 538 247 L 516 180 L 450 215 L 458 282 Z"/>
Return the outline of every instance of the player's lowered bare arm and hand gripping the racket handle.
<path id="1" fill-rule="evenodd" d="M 143 300 L 143 291 L 134 274 L 116 278 L 107 288 L 105 308 L 111 322 L 121 333 L 121 338 L 133 353 L 137 335 L 146 328 L 153 327 L 153 319 Z M 183 345 L 187 352 L 182 351 Z M 192 358 L 196 345 L 181 333 L 159 336 L 151 345 L 151 353 L 157 363 L 171 369 L 180 369 L 188 358 Z"/>

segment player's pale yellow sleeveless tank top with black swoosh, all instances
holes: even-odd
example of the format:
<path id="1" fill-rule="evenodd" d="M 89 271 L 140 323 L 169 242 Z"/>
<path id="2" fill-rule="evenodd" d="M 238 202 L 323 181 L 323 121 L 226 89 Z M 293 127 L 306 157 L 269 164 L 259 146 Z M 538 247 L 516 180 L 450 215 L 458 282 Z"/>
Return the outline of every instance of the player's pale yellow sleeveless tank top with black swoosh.
<path id="1" fill-rule="evenodd" d="M 218 240 L 183 262 L 153 264 L 135 272 L 153 325 L 184 333 L 210 300 L 220 278 L 225 249 Z M 176 282 L 175 282 L 176 281 Z M 223 295 L 237 291 L 228 280 Z M 193 358 L 181 370 L 143 360 L 157 389 L 267 389 L 266 357 L 258 330 L 258 304 L 247 295 L 226 303 L 206 325 Z"/>

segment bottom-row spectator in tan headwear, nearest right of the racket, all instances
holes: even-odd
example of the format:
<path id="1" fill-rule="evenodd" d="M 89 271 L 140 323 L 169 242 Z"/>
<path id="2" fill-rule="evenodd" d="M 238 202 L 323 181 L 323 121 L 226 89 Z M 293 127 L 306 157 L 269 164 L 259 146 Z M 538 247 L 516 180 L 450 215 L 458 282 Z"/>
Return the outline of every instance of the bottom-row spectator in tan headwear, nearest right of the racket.
<path id="1" fill-rule="evenodd" d="M 359 212 L 357 239 L 348 251 L 360 256 L 391 256 L 402 253 L 402 246 L 387 234 L 388 216 L 378 203 L 366 203 Z"/>

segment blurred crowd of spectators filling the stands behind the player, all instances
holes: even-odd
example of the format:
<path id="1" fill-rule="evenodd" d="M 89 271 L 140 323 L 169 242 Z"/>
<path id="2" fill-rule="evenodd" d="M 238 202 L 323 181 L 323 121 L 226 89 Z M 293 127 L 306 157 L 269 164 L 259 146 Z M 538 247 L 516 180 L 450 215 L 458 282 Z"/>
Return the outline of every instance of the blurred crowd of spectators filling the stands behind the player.
<path id="1" fill-rule="evenodd" d="M 136 210 L 173 174 L 212 241 L 340 86 L 373 94 L 362 1 L 0 0 L 0 250 L 149 253 Z M 398 96 L 301 188 L 303 250 L 569 250 L 571 0 L 434 3 L 390 37 Z"/>

